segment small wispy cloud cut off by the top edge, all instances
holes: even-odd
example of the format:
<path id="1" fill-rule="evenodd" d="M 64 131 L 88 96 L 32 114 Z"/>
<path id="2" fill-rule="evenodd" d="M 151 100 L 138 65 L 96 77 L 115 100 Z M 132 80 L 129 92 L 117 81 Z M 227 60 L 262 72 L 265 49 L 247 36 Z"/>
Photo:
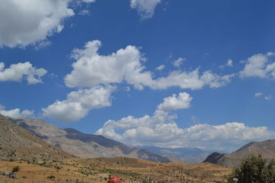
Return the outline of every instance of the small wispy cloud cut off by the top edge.
<path id="1" fill-rule="evenodd" d="M 137 10 L 142 19 L 149 19 L 153 17 L 155 8 L 159 3 L 161 3 L 161 0 L 131 0 L 130 6 Z"/>

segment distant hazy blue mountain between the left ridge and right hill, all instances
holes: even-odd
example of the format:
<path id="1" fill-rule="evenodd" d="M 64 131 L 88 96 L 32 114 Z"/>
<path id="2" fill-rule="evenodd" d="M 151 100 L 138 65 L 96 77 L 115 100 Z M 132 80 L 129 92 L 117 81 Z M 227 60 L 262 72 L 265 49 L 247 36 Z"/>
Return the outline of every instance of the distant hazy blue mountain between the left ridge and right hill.
<path id="1" fill-rule="evenodd" d="M 155 154 L 160 154 L 171 160 L 182 162 L 202 162 L 210 154 L 209 151 L 203 151 L 203 149 L 199 148 L 164 148 L 144 146 L 142 149 L 148 149 Z"/>

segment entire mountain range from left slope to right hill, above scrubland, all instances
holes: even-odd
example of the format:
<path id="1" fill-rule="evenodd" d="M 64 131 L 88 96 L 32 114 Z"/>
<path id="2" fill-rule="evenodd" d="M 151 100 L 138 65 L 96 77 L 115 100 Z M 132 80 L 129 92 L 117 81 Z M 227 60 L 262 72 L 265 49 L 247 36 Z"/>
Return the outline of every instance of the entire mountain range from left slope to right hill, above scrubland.
<path id="1" fill-rule="evenodd" d="M 0 158 L 24 160 L 129 157 L 155 162 L 211 162 L 234 167 L 249 154 L 275 158 L 275 140 L 252 142 L 232 154 L 199 148 L 130 147 L 100 135 L 84 134 L 73 128 L 61 129 L 42 119 L 0 115 Z M 209 155 L 209 156 L 208 156 Z"/>

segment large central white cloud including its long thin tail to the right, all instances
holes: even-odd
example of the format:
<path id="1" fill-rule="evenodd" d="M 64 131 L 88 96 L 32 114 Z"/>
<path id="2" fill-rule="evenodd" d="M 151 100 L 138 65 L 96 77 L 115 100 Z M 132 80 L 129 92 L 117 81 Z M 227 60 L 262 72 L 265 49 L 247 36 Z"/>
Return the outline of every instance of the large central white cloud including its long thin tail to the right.
<path id="1" fill-rule="evenodd" d="M 84 49 L 74 49 L 72 57 L 76 59 L 73 71 L 65 77 L 69 87 L 90 87 L 98 84 L 127 82 L 142 90 L 144 86 L 153 89 L 165 89 L 170 86 L 199 89 L 203 86 L 217 88 L 230 82 L 233 75 L 217 75 L 212 71 L 172 71 L 166 77 L 153 78 L 153 73 L 145 71 L 145 58 L 139 47 L 127 46 L 109 56 L 100 56 L 99 40 L 89 41 Z"/>

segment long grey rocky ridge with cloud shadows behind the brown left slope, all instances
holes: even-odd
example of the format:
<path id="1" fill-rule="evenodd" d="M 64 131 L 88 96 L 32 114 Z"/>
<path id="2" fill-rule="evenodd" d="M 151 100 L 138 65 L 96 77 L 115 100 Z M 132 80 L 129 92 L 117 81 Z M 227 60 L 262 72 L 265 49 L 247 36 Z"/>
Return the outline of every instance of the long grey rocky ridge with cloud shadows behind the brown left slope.
<path id="1" fill-rule="evenodd" d="M 65 130 L 41 119 L 9 118 L 15 124 L 35 134 L 43 141 L 82 158 L 125 156 L 156 162 L 170 161 L 168 158 L 154 154 L 146 149 L 129 147 L 104 136 L 83 134 L 72 128 Z"/>

